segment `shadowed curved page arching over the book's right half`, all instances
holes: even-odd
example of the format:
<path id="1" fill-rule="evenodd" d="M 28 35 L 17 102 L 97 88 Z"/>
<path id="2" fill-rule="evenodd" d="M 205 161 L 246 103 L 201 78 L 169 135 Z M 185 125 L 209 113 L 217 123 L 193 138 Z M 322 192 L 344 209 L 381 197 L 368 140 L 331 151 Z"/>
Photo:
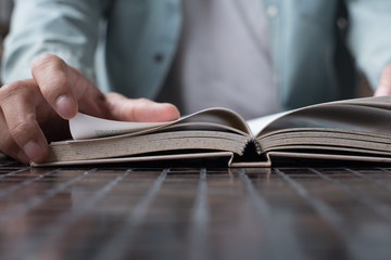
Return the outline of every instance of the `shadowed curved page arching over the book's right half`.
<path id="1" fill-rule="evenodd" d="M 283 113 L 257 134 L 281 129 L 330 128 L 390 133 L 391 98 L 365 98 L 312 105 Z"/>

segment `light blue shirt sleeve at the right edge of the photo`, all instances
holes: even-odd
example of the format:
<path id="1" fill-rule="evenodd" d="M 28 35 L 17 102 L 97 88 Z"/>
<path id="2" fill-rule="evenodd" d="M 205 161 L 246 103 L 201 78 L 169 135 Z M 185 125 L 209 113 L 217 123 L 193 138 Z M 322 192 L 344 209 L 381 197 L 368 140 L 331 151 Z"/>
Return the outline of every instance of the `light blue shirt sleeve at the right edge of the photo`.
<path id="1" fill-rule="evenodd" d="M 391 63 L 391 1 L 348 0 L 346 4 L 350 49 L 376 89 L 383 67 Z"/>

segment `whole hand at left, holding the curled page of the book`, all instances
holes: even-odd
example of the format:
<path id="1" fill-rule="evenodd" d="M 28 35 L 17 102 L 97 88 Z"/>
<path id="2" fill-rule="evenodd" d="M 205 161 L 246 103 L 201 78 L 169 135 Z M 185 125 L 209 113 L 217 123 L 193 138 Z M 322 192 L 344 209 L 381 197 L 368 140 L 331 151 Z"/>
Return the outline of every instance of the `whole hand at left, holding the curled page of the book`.
<path id="1" fill-rule="evenodd" d="M 27 164 L 48 156 L 48 141 L 70 136 L 67 119 L 83 112 L 97 117 L 130 121 L 169 121 L 179 116 L 171 104 L 103 94 L 79 70 L 60 57 L 35 60 L 33 79 L 0 88 L 0 151 Z"/>

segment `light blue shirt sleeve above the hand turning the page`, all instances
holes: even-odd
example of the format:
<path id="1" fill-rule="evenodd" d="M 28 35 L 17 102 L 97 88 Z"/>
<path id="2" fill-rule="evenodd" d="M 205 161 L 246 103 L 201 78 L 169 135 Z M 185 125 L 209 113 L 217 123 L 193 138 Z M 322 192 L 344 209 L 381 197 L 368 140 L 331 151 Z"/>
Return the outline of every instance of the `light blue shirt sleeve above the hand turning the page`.
<path id="1" fill-rule="evenodd" d="M 35 57 L 51 53 L 94 81 L 99 0 L 15 0 L 4 40 L 2 81 L 30 78 Z"/>

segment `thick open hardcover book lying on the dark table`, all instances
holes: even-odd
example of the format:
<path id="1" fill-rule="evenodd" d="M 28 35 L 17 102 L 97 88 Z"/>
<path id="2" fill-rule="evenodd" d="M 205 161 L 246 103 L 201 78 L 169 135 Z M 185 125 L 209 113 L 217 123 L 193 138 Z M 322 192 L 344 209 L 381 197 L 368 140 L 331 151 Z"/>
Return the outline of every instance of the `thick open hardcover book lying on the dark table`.
<path id="1" fill-rule="evenodd" d="M 119 122 L 78 114 L 74 140 L 50 144 L 42 165 L 228 158 L 268 167 L 278 158 L 391 162 L 391 96 L 312 105 L 247 122 L 210 108 L 171 122 Z"/>

